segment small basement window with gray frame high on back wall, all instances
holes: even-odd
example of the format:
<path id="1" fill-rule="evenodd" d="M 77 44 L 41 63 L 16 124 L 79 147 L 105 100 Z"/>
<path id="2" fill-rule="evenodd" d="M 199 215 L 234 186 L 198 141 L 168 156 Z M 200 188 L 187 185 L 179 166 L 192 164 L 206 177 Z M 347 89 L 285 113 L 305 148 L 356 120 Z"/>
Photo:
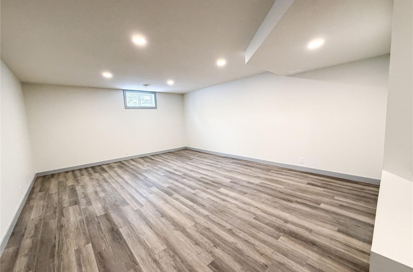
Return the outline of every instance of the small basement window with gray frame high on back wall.
<path id="1" fill-rule="evenodd" d="M 125 109 L 156 109 L 156 93 L 123 90 Z"/>

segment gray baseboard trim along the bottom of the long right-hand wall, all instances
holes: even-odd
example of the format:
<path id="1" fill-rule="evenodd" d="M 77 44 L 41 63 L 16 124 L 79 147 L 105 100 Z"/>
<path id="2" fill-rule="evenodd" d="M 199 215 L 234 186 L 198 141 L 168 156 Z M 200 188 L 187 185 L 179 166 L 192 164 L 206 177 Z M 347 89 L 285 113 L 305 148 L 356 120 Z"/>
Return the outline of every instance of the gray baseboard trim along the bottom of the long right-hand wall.
<path id="1" fill-rule="evenodd" d="M 229 157 L 229 158 L 234 158 L 234 159 L 245 160 L 245 161 L 258 162 L 258 163 L 262 163 L 262 164 L 268 164 L 268 165 L 273 165 L 273 166 L 292 169 L 292 170 L 304 171 L 304 172 L 309 172 L 309 173 L 313 173 L 313 174 L 319 174 L 319 175 L 325 175 L 325 176 L 330 176 L 330 177 L 335 177 L 335 178 L 358 181 L 358 182 L 362 182 L 362 183 L 380 185 L 380 180 L 379 179 L 374 179 L 374 178 L 354 176 L 354 175 L 349 175 L 349 174 L 344 174 L 344 173 L 337 173 L 337 172 L 332 172 L 332 171 L 327 171 L 327 170 L 320 170 L 320 169 L 314 169 L 314 168 L 309 168 L 309 167 L 302 167 L 302 166 L 297 166 L 297 165 L 266 161 L 266 160 L 261 160 L 261 159 L 255 159 L 255 158 L 250 158 L 250 157 L 243 157 L 243 156 L 226 154 L 226 153 L 221 153 L 221 152 L 209 151 L 209 150 L 205 150 L 205 149 L 193 148 L 193 147 L 188 147 L 188 146 L 186 147 L 186 149 L 199 151 L 199 152 L 203 152 L 203 153 L 208 153 L 208 154 L 224 156 L 224 157 Z"/>

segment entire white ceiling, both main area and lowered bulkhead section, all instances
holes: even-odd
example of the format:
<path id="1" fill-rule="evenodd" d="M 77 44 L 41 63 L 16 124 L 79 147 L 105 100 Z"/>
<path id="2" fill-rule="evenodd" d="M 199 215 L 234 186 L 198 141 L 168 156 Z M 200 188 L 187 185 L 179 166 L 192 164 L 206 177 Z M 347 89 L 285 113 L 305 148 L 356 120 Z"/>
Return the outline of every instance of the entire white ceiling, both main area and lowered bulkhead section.
<path id="1" fill-rule="evenodd" d="M 393 0 L 1 0 L 1 59 L 22 82 L 186 93 L 265 70 L 291 75 L 387 54 L 392 7 Z M 148 44 L 133 44 L 135 34 Z M 325 44 L 310 51 L 315 38 Z M 216 66 L 220 58 L 226 66 Z"/>

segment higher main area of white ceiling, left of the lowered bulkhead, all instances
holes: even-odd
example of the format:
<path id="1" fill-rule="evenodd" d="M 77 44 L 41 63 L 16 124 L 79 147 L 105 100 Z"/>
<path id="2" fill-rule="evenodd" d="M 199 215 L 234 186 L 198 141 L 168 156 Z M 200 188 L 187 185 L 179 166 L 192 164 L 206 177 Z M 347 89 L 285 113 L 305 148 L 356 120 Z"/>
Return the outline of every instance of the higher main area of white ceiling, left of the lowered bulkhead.
<path id="1" fill-rule="evenodd" d="M 185 93 L 263 72 L 244 51 L 273 3 L 1 0 L 1 59 L 22 82 Z"/>

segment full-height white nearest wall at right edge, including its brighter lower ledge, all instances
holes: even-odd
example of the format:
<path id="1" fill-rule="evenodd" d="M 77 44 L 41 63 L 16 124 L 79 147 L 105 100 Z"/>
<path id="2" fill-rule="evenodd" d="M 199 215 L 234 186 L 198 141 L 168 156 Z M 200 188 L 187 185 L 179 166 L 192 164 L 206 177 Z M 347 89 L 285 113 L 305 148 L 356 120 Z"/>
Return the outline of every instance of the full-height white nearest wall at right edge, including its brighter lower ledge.
<path id="1" fill-rule="evenodd" d="M 413 2 L 395 0 L 384 163 L 371 251 L 413 271 Z M 373 260 L 371 272 L 389 271 Z M 394 269 L 393 269 L 394 270 Z M 395 270 L 394 270 L 395 271 Z"/>

